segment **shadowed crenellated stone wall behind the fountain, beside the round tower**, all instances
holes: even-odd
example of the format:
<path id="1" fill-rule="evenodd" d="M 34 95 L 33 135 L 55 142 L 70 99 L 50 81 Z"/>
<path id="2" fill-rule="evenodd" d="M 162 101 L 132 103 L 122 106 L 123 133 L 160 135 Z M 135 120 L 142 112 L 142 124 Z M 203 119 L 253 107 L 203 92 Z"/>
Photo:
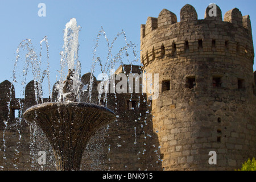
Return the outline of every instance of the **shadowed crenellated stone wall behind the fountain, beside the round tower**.
<path id="1" fill-rule="evenodd" d="M 141 67 L 123 65 L 115 75 L 125 73 L 128 77 L 129 73 L 141 72 Z M 91 76 L 90 73 L 83 75 L 82 84 L 89 85 Z M 92 93 L 89 95 L 88 88 L 88 91 L 81 93 L 80 101 L 89 102 L 91 96 L 91 103 L 108 107 L 117 118 L 90 139 L 82 156 L 81 170 L 162 169 L 159 142 L 152 131 L 150 103 L 146 94 L 129 94 L 127 90 L 123 94 L 108 93 L 106 100 L 105 94 L 102 94 L 99 102 L 97 87 L 100 81 L 94 76 L 92 78 Z M 58 97 L 56 84 L 53 85 L 51 98 L 54 102 Z M 22 117 L 15 116 L 15 110 L 23 113 L 28 107 L 36 105 L 34 81 L 27 84 L 25 98 L 15 98 L 14 86 L 7 80 L 0 84 L 0 88 L 0 170 L 55 170 L 55 157 L 46 135 L 35 123 L 27 123 Z M 9 97 L 10 89 L 12 97 Z M 47 101 L 48 98 L 43 99 L 43 102 Z M 129 108 L 129 102 L 134 102 L 133 109 Z M 5 121 L 9 122 L 5 125 Z M 38 163 L 39 151 L 46 151 L 44 165 Z"/>

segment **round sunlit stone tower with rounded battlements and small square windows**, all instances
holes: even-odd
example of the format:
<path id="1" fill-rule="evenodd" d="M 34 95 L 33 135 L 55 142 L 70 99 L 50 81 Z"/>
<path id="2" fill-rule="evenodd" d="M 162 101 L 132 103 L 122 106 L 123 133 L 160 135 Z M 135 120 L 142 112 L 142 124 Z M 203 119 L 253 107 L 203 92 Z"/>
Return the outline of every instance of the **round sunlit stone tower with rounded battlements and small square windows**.
<path id="1" fill-rule="evenodd" d="M 159 74 L 152 125 L 165 170 L 233 170 L 256 155 L 254 48 L 249 15 L 197 19 L 191 5 L 141 26 L 141 62 Z M 215 151 L 217 164 L 209 164 Z"/>

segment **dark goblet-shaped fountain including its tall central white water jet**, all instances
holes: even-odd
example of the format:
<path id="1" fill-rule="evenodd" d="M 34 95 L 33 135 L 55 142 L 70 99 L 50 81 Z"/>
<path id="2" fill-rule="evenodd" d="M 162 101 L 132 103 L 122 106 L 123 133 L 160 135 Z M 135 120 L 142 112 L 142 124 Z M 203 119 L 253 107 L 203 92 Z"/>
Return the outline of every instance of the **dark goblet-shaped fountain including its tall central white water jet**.
<path id="1" fill-rule="evenodd" d="M 101 126 L 115 119 L 114 112 L 106 107 L 77 102 L 82 88 L 77 59 L 78 31 L 76 20 L 71 19 L 64 31 L 64 55 L 69 70 L 67 79 L 60 82 L 60 100 L 32 106 L 23 113 L 26 121 L 35 121 L 46 134 L 55 155 L 56 168 L 61 171 L 79 170 L 88 140 Z"/>

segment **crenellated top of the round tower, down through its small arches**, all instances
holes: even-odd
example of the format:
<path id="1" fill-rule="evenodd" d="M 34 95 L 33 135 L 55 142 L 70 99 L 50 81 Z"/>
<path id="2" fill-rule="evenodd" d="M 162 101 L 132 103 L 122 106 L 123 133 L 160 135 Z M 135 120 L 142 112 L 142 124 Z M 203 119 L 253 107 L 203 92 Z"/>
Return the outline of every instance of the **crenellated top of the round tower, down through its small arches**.
<path id="1" fill-rule="evenodd" d="M 199 20 L 196 10 L 185 5 L 180 10 L 180 22 L 177 16 L 163 9 L 158 18 L 148 17 L 146 24 L 141 25 L 141 62 L 147 65 L 150 61 L 163 56 L 191 56 L 196 52 L 208 54 L 242 56 L 254 59 L 253 39 L 251 35 L 250 16 L 242 16 L 234 8 L 224 15 L 216 5 L 208 6 L 205 18 Z M 199 53 L 202 54 L 202 53 Z"/>

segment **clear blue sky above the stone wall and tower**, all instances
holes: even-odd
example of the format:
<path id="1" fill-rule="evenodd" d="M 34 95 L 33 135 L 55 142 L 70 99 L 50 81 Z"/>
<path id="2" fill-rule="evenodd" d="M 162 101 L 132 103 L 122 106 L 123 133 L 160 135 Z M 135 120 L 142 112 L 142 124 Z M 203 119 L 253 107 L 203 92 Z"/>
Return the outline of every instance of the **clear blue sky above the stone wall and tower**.
<path id="1" fill-rule="evenodd" d="M 46 17 L 38 16 L 38 4 L 46 4 Z M 16 48 L 26 38 L 30 38 L 37 52 L 40 51 L 40 40 L 48 37 L 49 59 L 51 65 L 51 84 L 56 80 L 56 70 L 60 68 L 60 51 L 63 46 L 63 30 L 69 19 L 76 18 L 81 26 L 79 35 L 79 59 L 82 74 L 90 72 L 95 40 L 101 27 L 110 40 L 122 30 L 127 40 L 137 46 L 139 57 L 140 27 L 145 24 L 148 16 L 158 17 L 162 9 L 168 9 L 177 15 L 187 3 L 195 7 L 198 18 L 204 19 L 205 9 L 210 3 L 216 3 L 226 11 L 237 7 L 242 15 L 250 15 L 253 28 L 254 44 L 256 43 L 256 1 L 255 0 L 9 0 L 0 1 L 1 18 L 1 49 L 0 49 L 0 82 L 11 81 Z M 123 39 L 119 40 L 123 42 Z M 104 47 L 104 43 L 102 44 Z M 255 47 L 255 46 L 254 46 Z M 107 49 L 106 49 L 107 51 Z M 256 66 L 254 65 L 254 70 Z"/>

